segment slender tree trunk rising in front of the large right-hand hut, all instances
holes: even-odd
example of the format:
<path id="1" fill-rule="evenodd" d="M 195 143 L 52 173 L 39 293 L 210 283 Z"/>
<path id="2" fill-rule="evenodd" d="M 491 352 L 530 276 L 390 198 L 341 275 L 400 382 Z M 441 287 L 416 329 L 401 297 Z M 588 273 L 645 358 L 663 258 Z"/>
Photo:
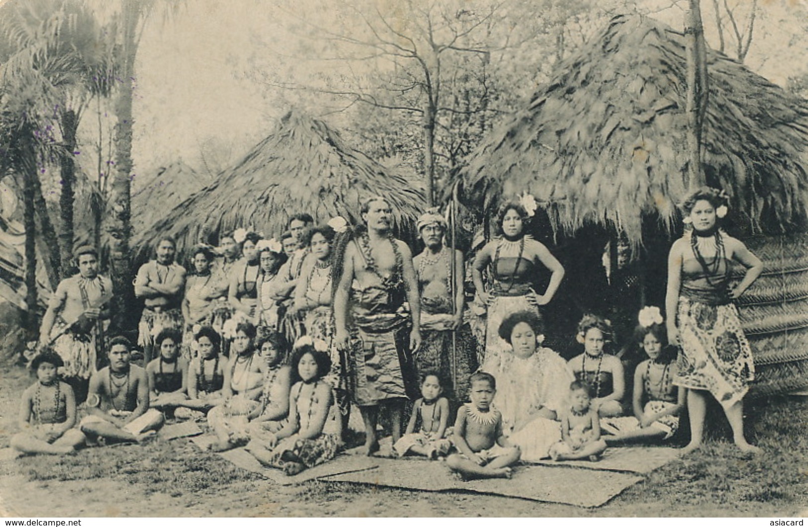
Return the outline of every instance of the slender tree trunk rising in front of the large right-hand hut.
<path id="1" fill-rule="evenodd" d="M 684 33 L 687 43 L 687 104 L 688 118 L 688 188 L 693 190 L 705 184 L 701 170 L 701 137 L 707 113 L 708 80 L 707 48 L 704 26 L 701 23 L 699 0 L 689 0 L 685 15 Z"/>

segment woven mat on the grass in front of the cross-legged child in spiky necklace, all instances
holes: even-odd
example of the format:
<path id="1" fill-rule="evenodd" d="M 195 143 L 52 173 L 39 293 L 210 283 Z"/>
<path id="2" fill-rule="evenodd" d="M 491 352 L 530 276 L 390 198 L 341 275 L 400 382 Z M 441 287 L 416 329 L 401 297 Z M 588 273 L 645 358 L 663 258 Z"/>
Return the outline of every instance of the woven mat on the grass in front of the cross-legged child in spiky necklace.
<path id="1" fill-rule="evenodd" d="M 319 478 L 419 491 L 471 491 L 579 507 L 599 507 L 634 483 L 636 474 L 570 466 L 517 466 L 511 479 L 461 481 L 443 462 L 377 459 L 378 468 Z"/>

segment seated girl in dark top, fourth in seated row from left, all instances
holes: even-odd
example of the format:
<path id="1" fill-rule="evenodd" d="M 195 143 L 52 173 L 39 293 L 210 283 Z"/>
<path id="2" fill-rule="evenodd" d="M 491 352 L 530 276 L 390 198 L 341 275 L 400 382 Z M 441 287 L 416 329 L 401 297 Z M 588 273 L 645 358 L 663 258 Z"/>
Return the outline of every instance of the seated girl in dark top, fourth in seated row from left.
<path id="1" fill-rule="evenodd" d="M 194 334 L 196 359 L 188 369 L 188 398 L 179 402 L 183 407 L 175 413 L 177 417 L 201 417 L 211 408 L 225 402 L 226 357 L 220 354 L 221 337 L 210 326 L 200 327 Z M 196 411 L 196 413 L 194 413 Z"/>

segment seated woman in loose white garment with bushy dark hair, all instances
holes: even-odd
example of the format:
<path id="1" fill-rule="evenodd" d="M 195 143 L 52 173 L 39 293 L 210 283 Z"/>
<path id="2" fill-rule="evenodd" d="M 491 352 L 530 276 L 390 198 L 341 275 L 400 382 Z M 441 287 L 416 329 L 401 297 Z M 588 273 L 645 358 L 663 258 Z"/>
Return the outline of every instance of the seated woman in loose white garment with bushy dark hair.
<path id="1" fill-rule="evenodd" d="M 572 373 L 558 353 L 539 344 L 544 323 L 536 311 L 517 311 L 504 318 L 499 336 L 512 348 L 512 358 L 499 374 L 497 408 L 503 428 L 512 430 L 511 444 L 521 449 L 522 460 L 535 462 L 549 456 L 561 441 L 558 412 L 566 407 Z"/>

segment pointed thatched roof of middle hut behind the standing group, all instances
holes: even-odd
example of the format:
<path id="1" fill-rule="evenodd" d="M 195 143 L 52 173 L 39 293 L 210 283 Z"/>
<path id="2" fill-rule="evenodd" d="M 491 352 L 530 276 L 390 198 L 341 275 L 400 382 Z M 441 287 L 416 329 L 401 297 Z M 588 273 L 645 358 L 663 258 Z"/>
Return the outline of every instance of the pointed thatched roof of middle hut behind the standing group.
<path id="1" fill-rule="evenodd" d="M 158 221 L 137 234 L 134 245 L 170 234 L 182 249 L 248 226 L 278 236 L 294 213 L 309 213 L 318 222 L 338 215 L 356 222 L 361 202 L 374 195 L 393 206 L 393 229 L 410 230 L 425 207 L 416 184 L 353 150 L 322 121 L 289 112 L 215 183 L 162 217 L 153 211 Z"/>

